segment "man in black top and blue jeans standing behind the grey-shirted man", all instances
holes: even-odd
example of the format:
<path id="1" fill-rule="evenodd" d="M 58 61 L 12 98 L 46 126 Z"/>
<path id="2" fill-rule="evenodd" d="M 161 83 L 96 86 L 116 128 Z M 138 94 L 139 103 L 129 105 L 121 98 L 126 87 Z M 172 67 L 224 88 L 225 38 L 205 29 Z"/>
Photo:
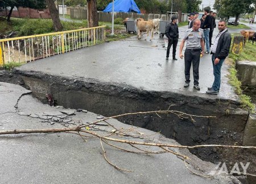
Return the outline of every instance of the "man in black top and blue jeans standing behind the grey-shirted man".
<path id="1" fill-rule="evenodd" d="M 210 30 L 212 30 L 212 16 L 209 15 L 209 9 L 204 10 L 204 14 L 206 15 L 203 25 L 204 30 L 204 39 L 205 39 L 205 46 L 207 48 L 207 51 L 205 53 L 210 53 L 210 43 L 209 43 L 209 33 Z"/>

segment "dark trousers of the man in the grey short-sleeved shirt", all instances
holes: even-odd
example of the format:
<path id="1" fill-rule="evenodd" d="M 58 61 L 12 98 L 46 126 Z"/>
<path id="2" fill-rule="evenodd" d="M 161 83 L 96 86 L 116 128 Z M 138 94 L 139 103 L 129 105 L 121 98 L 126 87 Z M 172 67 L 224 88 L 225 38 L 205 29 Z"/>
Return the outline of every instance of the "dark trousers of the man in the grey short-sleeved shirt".
<path id="1" fill-rule="evenodd" d="M 191 49 L 185 49 L 184 60 L 185 60 L 185 83 L 189 83 L 190 80 L 190 68 L 193 65 L 193 77 L 194 85 L 199 85 L 199 64 L 200 64 L 200 49 L 192 51 Z"/>

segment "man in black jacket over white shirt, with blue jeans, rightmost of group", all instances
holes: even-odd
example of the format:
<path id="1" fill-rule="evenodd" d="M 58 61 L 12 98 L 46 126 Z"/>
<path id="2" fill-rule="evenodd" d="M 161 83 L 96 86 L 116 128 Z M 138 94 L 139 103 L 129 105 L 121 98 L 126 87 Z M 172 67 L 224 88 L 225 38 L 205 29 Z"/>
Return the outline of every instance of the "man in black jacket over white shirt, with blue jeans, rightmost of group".
<path id="1" fill-rule="evenodd" d="M 231 35 L 226 29 L 225 20 L 220 20 L 218 22 L 218 33 L 213 46 L 212 46 L 212 65 L 213 65 L 213 75 L 214 82 L 212 87 L 208 87 L 207 94 L 218 94 L 220 90 L 221 83 L 221 66 L 225 61 L 225 58 L 229 55 L 229 48 L 231 44 Z"/>

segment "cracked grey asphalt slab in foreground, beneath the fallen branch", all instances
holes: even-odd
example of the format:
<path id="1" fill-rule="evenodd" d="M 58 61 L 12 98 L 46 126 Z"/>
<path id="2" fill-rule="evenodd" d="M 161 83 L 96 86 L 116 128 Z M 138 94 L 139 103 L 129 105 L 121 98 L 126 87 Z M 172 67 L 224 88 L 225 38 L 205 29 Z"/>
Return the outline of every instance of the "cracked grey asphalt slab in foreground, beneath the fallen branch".
<path id="1" fill-rule="evenodd" d="M 30 90 L 10 83 L 0 82 L 0 94 L 0 131 L 73 127 L 102 118 L 86 110 L 78 112 L 42 104 L 32 97 Z M 131 128 L 115 119 L 107 121 L 116 128 Z M 102 123 L 90 130 L 108 135 L 113 128 L 106 125 Z M 133 128 L 135 134 L 150 136 L 122 139 L 178 144 L 147 129 Z M 104 160 L 98 139 L 86 140 L 71 133 L 0 135 L 0 183 L 232 183 L 229 179 L 220 181 L 192 174 L 174 154 L 126 153 L 104 145 L 110 161 L 120 168 L 133 170 L 120 172 Z M 214 168 L 212 163 L 201 161 L 187 149 L 172 150 L 191 158 L 188 167 L 193 172 L 206 174 Z"/>

